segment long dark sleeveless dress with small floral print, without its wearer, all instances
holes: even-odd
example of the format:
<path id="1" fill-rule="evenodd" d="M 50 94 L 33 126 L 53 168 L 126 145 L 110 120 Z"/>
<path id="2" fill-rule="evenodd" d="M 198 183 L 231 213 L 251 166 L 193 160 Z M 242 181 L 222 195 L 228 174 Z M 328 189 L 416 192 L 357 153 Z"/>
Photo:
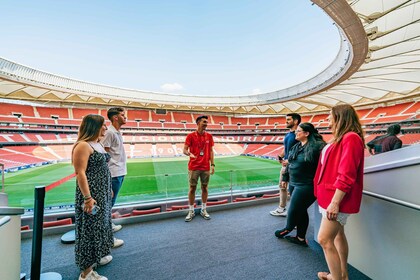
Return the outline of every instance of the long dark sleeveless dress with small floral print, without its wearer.
<path id="1" fill-rule="evenodd" d="M 83 211 L 83 195 L 76 181 L 76 265 L 85 270 L 111 253 L 114 236 L 111 226 L 111 173 L 110 156 L 95 149 L 89 156 L 86 177 L 92 197 L 99 210 L 95 215 Z"/>

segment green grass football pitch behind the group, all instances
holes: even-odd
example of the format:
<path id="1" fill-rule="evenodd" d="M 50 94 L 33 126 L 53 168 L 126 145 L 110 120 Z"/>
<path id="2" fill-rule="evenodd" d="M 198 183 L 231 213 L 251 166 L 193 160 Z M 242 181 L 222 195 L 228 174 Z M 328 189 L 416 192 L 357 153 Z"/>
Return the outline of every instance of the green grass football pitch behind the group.
<path id="1" fill-rule="evenodd" d="M 235 156 L 218 157 L 215 164 L 216 172 L 209 183 L 210 196 L 230 192 L 231 187 L 233 191 L 247 191 L 278 184 L 280 165 L 277 161 Z M 127 166 L 128 174 L 117 203 L 186 198 L 188 175 L 185 157 L 132 159 Z M 6 174 L 5 192 L 9 206 L 33 208 L 35 186 L 48 186 L 73 172 L 70 163 L 58 163 Z M 45 206 L 72 206 L 75 188 L 73 178 L 51 189 L 45 195 Z"/>

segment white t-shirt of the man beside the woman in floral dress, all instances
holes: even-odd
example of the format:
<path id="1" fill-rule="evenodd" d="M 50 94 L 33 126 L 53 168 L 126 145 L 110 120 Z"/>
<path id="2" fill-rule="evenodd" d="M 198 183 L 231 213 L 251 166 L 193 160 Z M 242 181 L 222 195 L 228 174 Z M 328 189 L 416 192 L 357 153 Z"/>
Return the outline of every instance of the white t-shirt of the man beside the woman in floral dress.
<path id="1" fill-rule="evenodd" d="M 111 160 L 108 166 L 109 171 L 111 171 L 111 176 L 127 175 L 127 156 L 125 155 L 121 132 L 116 130 L 113 125 L 110 125 L 101 142 L 105 148 L 110 149 L 109 155 L 111 156 Z"/>

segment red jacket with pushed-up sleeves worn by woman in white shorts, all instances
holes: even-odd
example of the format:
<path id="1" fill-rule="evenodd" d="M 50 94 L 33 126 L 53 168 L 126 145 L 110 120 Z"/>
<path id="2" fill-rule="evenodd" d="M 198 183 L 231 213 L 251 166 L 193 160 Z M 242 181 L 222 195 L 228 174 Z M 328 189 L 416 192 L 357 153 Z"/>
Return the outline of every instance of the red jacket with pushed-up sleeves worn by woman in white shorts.
<path id="1" fill-rule="evenodd" d="M 354 132 L 346 133 L 340 143 L 333 143 L 325 153 L 324 164 L 318 162 L 314 178 L 314 192 L 324 209 L 339 189 L 346 193 L 340 212 L 358 213 L 362 201 L 364 145 Z"/>

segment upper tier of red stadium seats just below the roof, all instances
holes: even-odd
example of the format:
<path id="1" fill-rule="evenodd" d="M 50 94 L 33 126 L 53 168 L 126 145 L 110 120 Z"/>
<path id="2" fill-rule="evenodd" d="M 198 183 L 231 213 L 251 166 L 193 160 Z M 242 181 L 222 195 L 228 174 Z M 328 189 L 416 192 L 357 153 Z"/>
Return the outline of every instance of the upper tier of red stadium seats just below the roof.
<path id="1" fill-rule="evenodd" d="M 419 102 L 407 102 L 389 107 L 376 107 L 358 110 L 363 124 L 392 123 L 418 119 Z M 106 117 L 106 109 L 31 107 L 27 105 L 5 104 L 0 110 L 0 123 L 28 124 L 40 126 L 78 126 L 83 116 L 101 114 Z M 157 114 L 153 110 L 127 110 L 126 127 L 195 129 L 194 120 L 199 114 L 166 112 Z M 312 122 L 319 127 L 326 127 L 327 113 L 303 115 L 302 122 Z M 285 129 L 284 117 L 234 117 L 210 115 L 209 129 Z"/>

